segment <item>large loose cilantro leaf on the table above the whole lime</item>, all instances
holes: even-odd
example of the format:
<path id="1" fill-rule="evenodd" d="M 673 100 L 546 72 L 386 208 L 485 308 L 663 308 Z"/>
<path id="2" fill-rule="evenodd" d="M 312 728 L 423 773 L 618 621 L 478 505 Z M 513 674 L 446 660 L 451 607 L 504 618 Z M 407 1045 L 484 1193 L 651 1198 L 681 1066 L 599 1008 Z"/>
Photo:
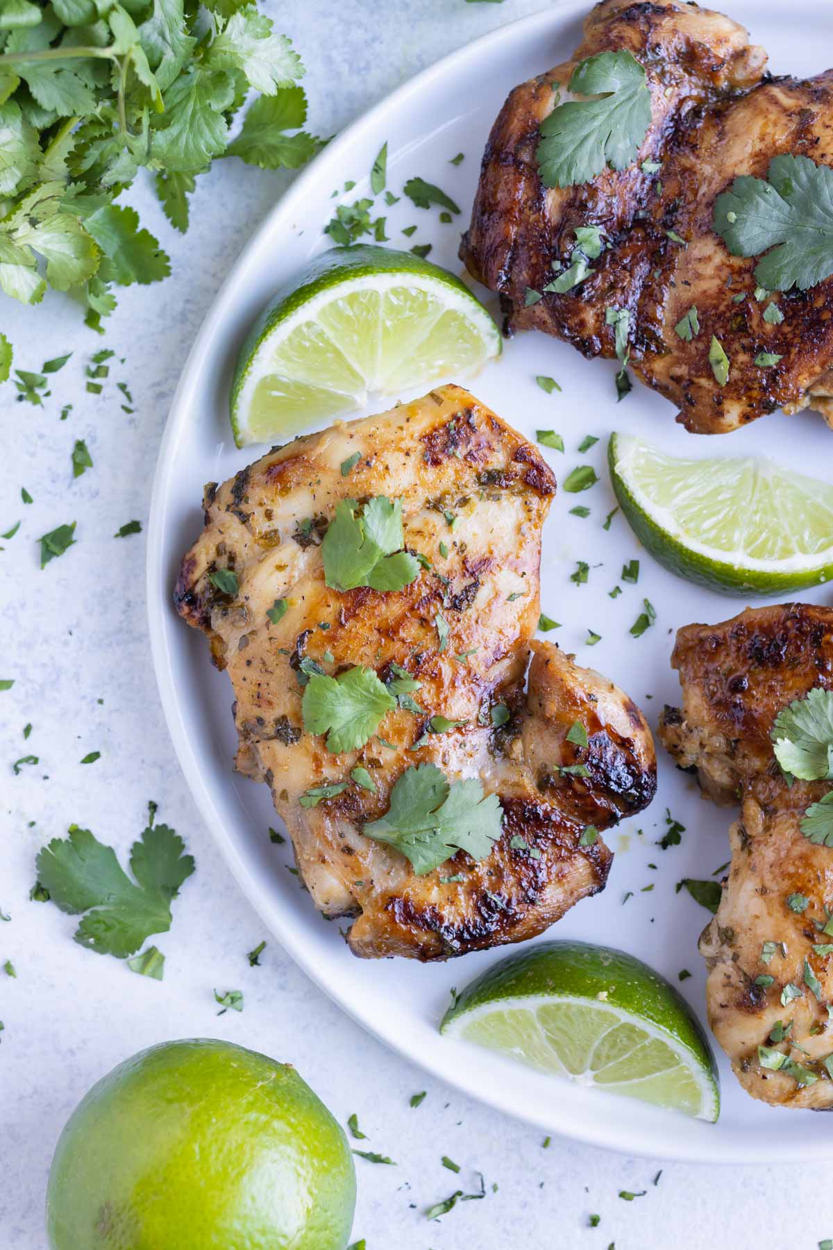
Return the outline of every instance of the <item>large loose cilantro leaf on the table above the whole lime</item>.
<path id="1" fill-rule="evenodd" d="M 75 941 L 101 955 L 124 959 L 151 934 L 167 932 L 171 901 L 194 872 L 182 839 L 167 825 L 150 821 L 134 842 L 130 866 L 139 884 L 124 871 L 111 846 L 89 829 L 71 825 L 69 838 L 54 838 L 37 855 L 37 880 L 52 902 L 81 915 Z"/>

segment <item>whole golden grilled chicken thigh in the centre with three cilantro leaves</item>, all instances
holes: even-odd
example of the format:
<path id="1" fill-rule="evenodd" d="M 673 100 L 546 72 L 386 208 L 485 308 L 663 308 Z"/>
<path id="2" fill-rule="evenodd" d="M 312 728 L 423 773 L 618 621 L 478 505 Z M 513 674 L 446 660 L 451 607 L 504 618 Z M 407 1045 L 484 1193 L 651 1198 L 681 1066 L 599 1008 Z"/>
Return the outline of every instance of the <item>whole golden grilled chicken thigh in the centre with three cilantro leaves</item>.
<path id="1" fill-rule="evenodd" d="M 555 489 L 536 449 L 458 386 L 297 439 L 206 488 L 205 529 L 182 561 L 176 606 L 229 670 L 237 768 L 270 785 L 315 905 L 355 918 L 357 955 L 445 959 L 541 932 L 604 886 L 611 852 L 601 838 L 579 845 L 584 826 L 602 830 L 653 798 L 653 742 L 638 709 L 557 648 L 531 644 Z M 398 592 L 331 590 L 320 542 L 336 504 L 376 495 L 402 500 L 406 548 L 431 565 Z M 458 518 L 453 529 L 446 514 Z M 239 578 L 234 600 L 209 580 L 226 566 Z M 276 599 L 288 610 L 272 624 Z M 438 612 L 448 626 L 442 648 Z M 382 680 L 401 665 L 422 682 L 426 715 L 397 709 L 361 750 L 330 754 L 323 738 L 303 731 L 305 655 L 332 674 L 368 665 Z M 498 702 L 511 715 L 495 728 Z M 465 724 L 413 750 L 436 714 Z M 576 719 L 587 748 L 567 741 Z M 503 831 L 487 859 L 458 851 L 417 876 L 402 854 L 362 834 L 387 811 L 403 770 L 422 762 L 500 795 Z M 576 762 L 588 778 L 558 772 Z M 348 785 L 300 806 L 306 790 L 350 780 L 356 765 L 376 794 Z"/>

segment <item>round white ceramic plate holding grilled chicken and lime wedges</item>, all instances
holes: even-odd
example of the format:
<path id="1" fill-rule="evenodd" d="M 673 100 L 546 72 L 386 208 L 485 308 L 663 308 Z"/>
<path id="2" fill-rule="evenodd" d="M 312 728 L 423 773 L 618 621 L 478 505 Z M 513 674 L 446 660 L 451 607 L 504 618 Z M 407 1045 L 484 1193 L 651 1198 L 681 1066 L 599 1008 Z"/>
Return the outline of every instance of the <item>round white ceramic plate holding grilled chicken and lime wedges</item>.
<path id="1" fill-rule="evenodd" d="M 458 271 L 458 236 L 467 224 L 480 159 L 488 130 L 507 91 L 569 55 L 579 39 L 588 0 L 567 2 L 506 26 L 426 70 L 371 110 L 302 174 L 283 196 L 237 261 L 202 326 L 162 440 L 154 485 L 149 532 L 149 612 L 156 676 L 171 736 L 200 809 L 231 869 L 264 920 L 311 978 L 356 1020 L 437 1076 L 505 1111 L 547 1130 L 629 1152 L 714 1162 L 772 1161 L 773 1142 L 782 1160 L 818 1160 L 833 1155 L 829 1120 L 808 1111 L 781 1111 L 742 1092 L 721 1056 L 723 1111 L 717 1125 L 643 1106 L 631 1100 L 548 1080 L 486 1051 L 440 1038 L 437 1022 L 452 985 L 462 985 L 501 959 L 506 950 L 467 955 L 447 964 L 422 966 L 406 960 L 355 959 L 338 934 L 325 924 L 308 894 L 286 871 L 290 848 L 270 844 L 266 829 L 275 814 L 266 786 L 231 771 L 235 731 L 231 686 L 209 661 L 202 636 L 175 615 L 171 591 L 177 565 L 200 532 L 200 500 L 206 481 L 222 481 L 256 459 L 237 451 L 229 428 L 229 381 L 240 342 L 275 288 L 328 244 L 322 226 L 335 205 L 370 194 L 368 171 L 381 144 L 388 144 L 387 185 L 396 194 L 412 175 L 440 184 L 463 209 L 452 225 L 436 210 L 415 209 L 402 198 L 392 208 L 380 199 L 375 215 L 387 216 L 392 246 L 432 242 L 431 259 Z M 753 39 L 771 52 L 774 72 L 812 74 L 824 69 L 833 46 L 833 11 L 813 0 L 793 0 L 789 18 L 782 5 L 762 0 L 727 0 Z M 807 39 L 807 31 L 813 39 Z M 448 164 L 465 152 L 461 165 Z M 335 188 L 356 186 L 333 200 Z M 400 231 L 416 224 L 412 238 Z M 586 361 L 566 344 L 538 334 L 507 342 L 503 358 L 470 382 L 480 399 L 531 438 L 538 428 L 556 429 L 566 454 L 547 452 L 559 479 L 578 462 L 592 462 L 601 478 L 592 490 L 559 494 L 545 530 L 542 610 L 562 621 L 550 638 L 576 651 L 619 682 L 646 709 L 652 722 L 663 702 L 678 701 L 677 679 L 668 665 L 673 635 L 688 621 L 718 621 L 742 602 L 691 586 L 661 569 L 644 552 L 621 514 L 609 532 L 602 530 L 614 500 L 604 470 L 611 430 L 632 430 L 669 452 L 777 455 L 796 469 L 821 470 L 831 464 L 831 431 L 816 415 L 764 418 L 751 428 L 713 440 L 697 439 L 674 424 L 674 411 L 658 395 L 636 384 L 617 405 L 614 362 Z M 546 395 L 536 374 L 558 380 L 562 392 Z M 402 396 L 410 398 L 410 396 Z M 586 434 L 599 442 L 588 456 L 577 454 Z M 569 515 L 576 504 L 588 519 Z M 641 561 L 637 586 L 622 584 L 622 564 Z M 589 581 L 576 586 L 569 574 L 577 560 L 591 564 Z M 657 624 L 641 639 L 628 630 L 643 596 L 657 609 Z M 808 599 L 824 601 L 818 590 Z M 587 630 L 602 635 L 592 650 Z M 662 850 L 666 808 L 686 825 L 682 844 Z M 677 982 L 704 1018 L 704 969 L 697 936 L 708 914 L 674 886 L 683 876 L 708 878 L 728 859 L 731 814 L 702 802 L 691 779 L 677 772 L 659 751 L 659 790 L 639 820 L 613 831 L 617 851 L 607 889 L 581 902 L 550 936 L 607 942 L 647 960 Z M 624 900 L 628 891 L 632 896 Z"/>

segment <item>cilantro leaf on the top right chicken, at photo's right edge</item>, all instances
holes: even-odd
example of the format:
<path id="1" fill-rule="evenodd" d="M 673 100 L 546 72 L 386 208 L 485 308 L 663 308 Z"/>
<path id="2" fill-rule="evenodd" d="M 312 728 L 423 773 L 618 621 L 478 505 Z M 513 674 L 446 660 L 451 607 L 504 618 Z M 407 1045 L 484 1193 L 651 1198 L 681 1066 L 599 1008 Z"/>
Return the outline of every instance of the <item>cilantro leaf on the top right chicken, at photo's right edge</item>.
<path id="1" fill-rule="evenodd" d="M 766 180 L 742 175 L 718 195 L 712 224 L 733 256 L 768 252 L 754 270 L 761 286 L 806 291 L 833 274 L 833 170 L 776 156 Z"/>

